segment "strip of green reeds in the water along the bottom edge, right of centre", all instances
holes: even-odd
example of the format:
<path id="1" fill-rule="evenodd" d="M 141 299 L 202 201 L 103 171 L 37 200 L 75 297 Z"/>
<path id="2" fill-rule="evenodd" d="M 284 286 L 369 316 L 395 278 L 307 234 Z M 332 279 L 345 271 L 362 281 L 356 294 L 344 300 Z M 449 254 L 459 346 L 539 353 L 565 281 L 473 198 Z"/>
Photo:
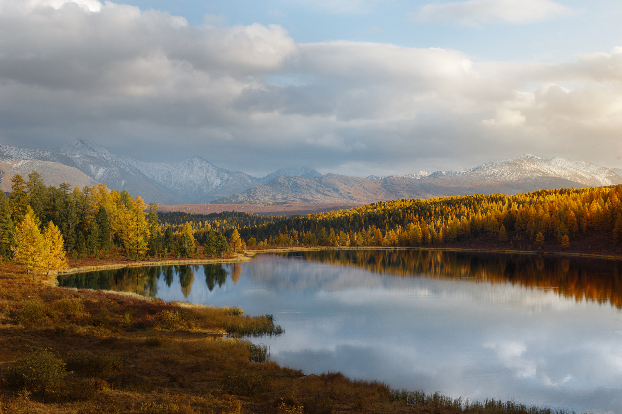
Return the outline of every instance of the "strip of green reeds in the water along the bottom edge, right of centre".
<path id="1" fill-rule="evenodd" d="M 391 389 L 391 397 L 395 402 L 405 404 L 424 405 L 440 410 L 453 410 L 455 412 L 473 414 L 575 414 L 575 412 L 563 408 L 538 407 L 537 405 L 524 405 L 514 401 L 502 402 L 489 398 L 484 402 L 470 401 L 467 399 L 447 397 L 439 392 L 426 393 L 424 391 L 406 389 Z"/>

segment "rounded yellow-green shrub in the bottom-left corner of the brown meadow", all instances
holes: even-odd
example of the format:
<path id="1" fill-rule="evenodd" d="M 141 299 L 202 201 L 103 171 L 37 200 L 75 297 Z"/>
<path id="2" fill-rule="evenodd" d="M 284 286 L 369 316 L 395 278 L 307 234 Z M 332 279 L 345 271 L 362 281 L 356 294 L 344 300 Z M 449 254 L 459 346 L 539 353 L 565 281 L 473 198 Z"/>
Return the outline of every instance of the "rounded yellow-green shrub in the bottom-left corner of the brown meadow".
<path id="1" fill-rule="evenodd" d="M 49 385 L 67 375 L 65 362 L 50 348 L 35 348 L 16 364 L 4 371 L 4 379 L 11 388 L 26 388 L 32 392 L 45 392 Z"/>

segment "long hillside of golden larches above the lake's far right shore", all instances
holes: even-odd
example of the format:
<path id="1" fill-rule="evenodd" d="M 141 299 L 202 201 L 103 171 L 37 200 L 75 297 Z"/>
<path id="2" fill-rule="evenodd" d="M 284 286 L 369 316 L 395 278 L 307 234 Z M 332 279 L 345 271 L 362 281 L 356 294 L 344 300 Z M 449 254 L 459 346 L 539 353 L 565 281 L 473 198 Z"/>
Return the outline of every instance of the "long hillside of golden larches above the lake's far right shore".
<path id="1" fill-rule="evenodd" d="M 245 240 L 271 245 L 442 245 L 488 234 L 534 245 L 594 233 L 622 238 L 622 186 L 378 202 L 243 227 Z M 250 244 L 250 243 L 249 243 Z"/>

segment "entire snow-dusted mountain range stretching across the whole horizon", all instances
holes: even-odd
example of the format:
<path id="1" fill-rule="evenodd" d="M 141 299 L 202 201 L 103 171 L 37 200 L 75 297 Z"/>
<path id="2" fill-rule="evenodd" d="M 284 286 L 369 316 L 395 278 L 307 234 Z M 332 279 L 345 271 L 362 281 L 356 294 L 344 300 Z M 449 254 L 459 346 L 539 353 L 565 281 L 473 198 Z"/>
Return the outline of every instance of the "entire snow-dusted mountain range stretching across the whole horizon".
<path id="1" fill-rule="evenodd" d="M 622 184 L 622 169 L 525 154 L 466 171 L 419 171 L 405 176 L 356 178 L 322 175 L 306 167 L 282 168 L 257 178 L 228 171 L 193 156 L 179 163 L 146 163 L 117 156 L 101 145 L 75 140 L 54 150 L 0 145 L 0 188 L 10 177 L 37 169 L 47 185 L 80 187 L 103 182 L 159 204 L 275 204 L 282 202 L 369 203 L 393 199 L 514 194 L 539 189 Z"/>

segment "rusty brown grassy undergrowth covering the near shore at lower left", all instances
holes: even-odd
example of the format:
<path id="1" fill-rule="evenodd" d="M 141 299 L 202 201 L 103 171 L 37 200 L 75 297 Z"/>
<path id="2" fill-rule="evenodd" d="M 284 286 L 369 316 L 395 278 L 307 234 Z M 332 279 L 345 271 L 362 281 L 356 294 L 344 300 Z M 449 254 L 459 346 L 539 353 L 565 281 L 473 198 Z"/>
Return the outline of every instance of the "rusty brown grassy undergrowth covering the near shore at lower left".
<path id="1" fill-rule="evenodd" d="M 480 412 L 413 404 L 340 373 L 304 376 L 261 346 L 204 333 L 278 333 L 269 316 L 53 287 L 20 273 L 0 265 L 3 414 Z"/>

